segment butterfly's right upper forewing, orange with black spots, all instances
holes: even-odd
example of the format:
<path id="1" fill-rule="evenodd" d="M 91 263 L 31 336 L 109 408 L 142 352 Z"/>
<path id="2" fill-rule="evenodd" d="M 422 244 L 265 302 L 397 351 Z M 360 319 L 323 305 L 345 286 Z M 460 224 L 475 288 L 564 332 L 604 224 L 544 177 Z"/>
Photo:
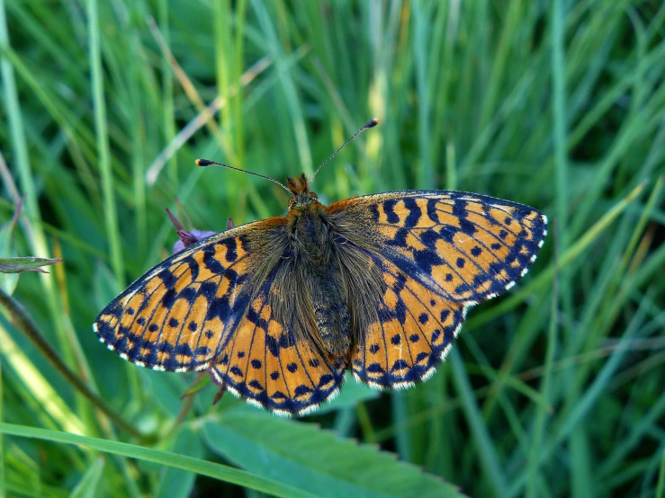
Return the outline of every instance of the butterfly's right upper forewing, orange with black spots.
<path id="1" fill-rule="evenodd" d="M 389 192 L 328 209 L 340 218 L 363 219 L 400 271 L 466 304 L 512 287 L 547 235 L 547 218 L 536 209 L 467 192 Z"/>

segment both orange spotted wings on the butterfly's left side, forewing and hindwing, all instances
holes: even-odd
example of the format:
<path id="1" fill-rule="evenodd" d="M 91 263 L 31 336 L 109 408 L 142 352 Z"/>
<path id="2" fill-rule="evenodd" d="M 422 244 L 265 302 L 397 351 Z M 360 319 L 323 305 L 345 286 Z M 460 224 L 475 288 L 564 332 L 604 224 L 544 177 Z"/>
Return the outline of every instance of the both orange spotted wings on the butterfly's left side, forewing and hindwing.
<path id="1" fill-rule="evenodd" d="M 337 394 L 345 363 L 294 334 L 292 307 L 274 299 L 275 280 L 290 277 L 284 227 L 271 218 L 233 228 L 159 263 L 104 308 L 99 339 L 143 367 L 210 369 L 231 393 L 277 414 L 315 408 Z"/>

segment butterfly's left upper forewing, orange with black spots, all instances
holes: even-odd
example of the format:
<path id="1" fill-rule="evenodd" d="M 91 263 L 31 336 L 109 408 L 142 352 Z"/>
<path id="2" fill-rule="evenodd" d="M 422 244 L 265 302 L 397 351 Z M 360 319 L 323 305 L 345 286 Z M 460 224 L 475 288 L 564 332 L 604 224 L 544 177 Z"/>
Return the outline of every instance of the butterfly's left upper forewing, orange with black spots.
<path id="1" fill-rule="evenodd" d="M 93 328 L 123 359 L 149 369 L 208 369 L 220 360 L 245 316 L 251 274 L 270 232 L 271 218 L 203 239 L 159 263 L 113 299 Z M 273 248 L 273 250 L 279 250 Z"/>

